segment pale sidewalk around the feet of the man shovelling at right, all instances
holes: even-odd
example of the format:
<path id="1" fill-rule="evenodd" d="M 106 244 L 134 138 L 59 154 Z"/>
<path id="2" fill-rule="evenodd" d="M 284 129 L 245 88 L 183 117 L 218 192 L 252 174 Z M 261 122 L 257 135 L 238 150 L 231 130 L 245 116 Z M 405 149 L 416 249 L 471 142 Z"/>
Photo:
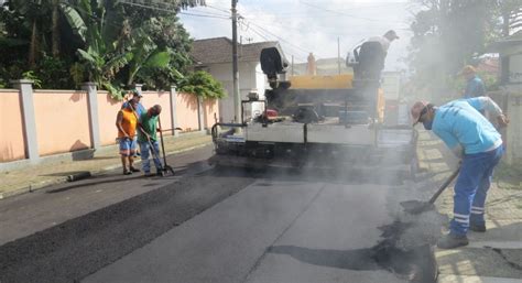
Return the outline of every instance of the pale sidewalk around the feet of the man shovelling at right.
<path id="1" fill-rule="evenodd" d="M 418 141 L 420 166 L 441 184 L 457 166 L 444 143 L 427 132 Z M 453 184 L 436 202 L 438 213 L 453 217 Z M 496 179 L 486 203 L 488 231 L 468 233 L 469 246 L 454 250 L 436 249 L 441 283 L 522 282 L 522 187 Z M 447 232 L 447 226 L 443 233 Z"/>

